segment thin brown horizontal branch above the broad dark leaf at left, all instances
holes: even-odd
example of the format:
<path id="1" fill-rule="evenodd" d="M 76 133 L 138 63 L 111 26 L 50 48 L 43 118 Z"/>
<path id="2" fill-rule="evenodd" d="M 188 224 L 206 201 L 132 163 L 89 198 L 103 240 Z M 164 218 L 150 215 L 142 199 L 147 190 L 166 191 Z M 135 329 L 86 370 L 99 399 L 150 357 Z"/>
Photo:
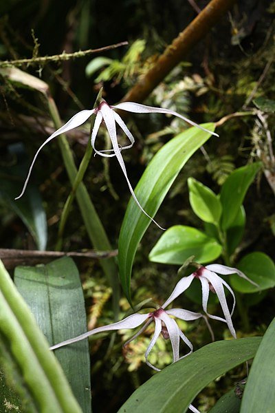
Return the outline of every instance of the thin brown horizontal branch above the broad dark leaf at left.
<path id="1" fill-rule="evenodd" d="M 0 259 L 5 268 L 12 270 L 18 265 L 46 264 L 56 258 L 73 257 L 101 260 L 118 255 L 118 251 L 83 251 L 83 252 L 59 252 L 59 251 L 25 251 L 17 249 L 0 248 Z"/>

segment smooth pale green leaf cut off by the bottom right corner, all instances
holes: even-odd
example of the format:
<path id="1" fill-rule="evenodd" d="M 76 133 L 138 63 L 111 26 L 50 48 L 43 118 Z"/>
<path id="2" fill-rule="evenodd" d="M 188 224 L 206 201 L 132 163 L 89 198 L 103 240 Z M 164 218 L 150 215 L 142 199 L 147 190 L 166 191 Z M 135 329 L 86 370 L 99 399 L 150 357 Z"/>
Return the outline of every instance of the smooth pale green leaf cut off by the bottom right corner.
<path id="1" fill-rule="evenodd" d="M 265 332 L 252 363 L 241 402 L 241 413 L 274 413 L 275 319 Z"/>

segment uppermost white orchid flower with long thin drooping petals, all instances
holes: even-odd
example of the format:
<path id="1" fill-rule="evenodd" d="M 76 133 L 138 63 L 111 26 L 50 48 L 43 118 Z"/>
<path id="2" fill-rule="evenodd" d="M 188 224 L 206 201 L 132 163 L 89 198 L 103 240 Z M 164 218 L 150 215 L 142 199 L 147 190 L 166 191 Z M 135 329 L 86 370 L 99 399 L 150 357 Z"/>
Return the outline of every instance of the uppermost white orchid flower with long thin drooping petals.
<path id="1" fill-rule="evenodd" d="M 72 130 L 72 129 L 80 126 L 80 125 L 83 125 L 83 123 L 85 123 L 92 114 L 96 114 L 96 119 L 95 119 L 95 122 L 94 122 L 94 129 L 91 132 L 91 146 L 93 147 L 94 151 L 96 153 L 98 153 L 98 155 L 100 155 L 100 156 L 105 156 L 105 157 L 116 156 L 116 158 L 118 159 L 118 162 L 120 164 L 120 167 L 122 169 L 122 172 L 124 173 L 124 176 L 126 178 L 126 182 L 129 186 L 129 189 L 130 189 L 131 195 L 133 196 L 133 199 L 137 203 L 138 207 L 140 207 L 142 212 L 148 218 L 150 218 L 153 222 L 155 222 L 155 220 L 153 220 L 153 218 L 151 218 L 151 216 L 148 215 L 148 213 L 146 213 L 146 211 L 144 211 L 144 209 L 140 205 L 140 202 L 138 202 L 138 200 L 135 196 L 135 193 L 133 191 L 133 188 L 131 186 L 131 183 L 129 181 L 129 178 L 128 178 L 128 175 L 127 175 L 127 172 L 126 172 L 126 167 L 124 165 L 124 160 L 122 158 L 121 151 L 124 150 L 124 149 L 131 148 L 133 146 L 133 143 L 135 142 L 135 139 L 133 138 L 133 135 L 131 134 L 129 129 L 126 127 L 126 125 L 123 122 L 122 118 L 120 118 L 120 116 L 115 112 L 114 109 L 122 109 L 122 110 L 125 110 L 126 112 L 133 112 L 133 113 L 139 113 L 139 114 L 161 113 L 161 114 L 174 115 L 174 116 L 177 116 L 178 118 L 181 118 L 181 119 L 185 120 L 187 123 L 190 123 L 190 125 L 196 126 L 199 129 L 201 129 L 203 131 L 206 131 L 206 132 L 208 132 L 212 135 L 219 136 L 219 135 L 215 134 L 214 132 L 208 131 L 208 129 L 205 129 L 205 128 L 201 127 L 200 125 L 197 125 L 197 123 L 192 122 L 192 120 L 188 120 L 184 116 L 181 116 L 181 115 L 177 114 L 177 112 L 174 112 L 173 110 L 162 109 L 162 108 L 159 108 L 159 107 L 151 107 L 151 106 L 146 106 L 146 105 L 140 105 L 139 103 L 132 103 L 132 102 L 124 102 L 124 103 L 119 103 L 118 105 L 115 105 L 115 106 L 109 106 L 108 103 L 104 99 L 102 99 L 102 102 L 100 103 L 100 105 L 98 105 L 98 107 L 96 107 L 95 109 L 82 110 L 82 111 L 78 112 L 78 114 L 74 115 L 70 120 L 68 120 L 68 122 L 65 125 L 63 125 L 63 127 L 59 128 L 57 131 L 54 132 L 54 134 L 52 134 L 49 138 L 47 138 L 45 140 L 45 142 L 43 142 L 41 147 L 39 147 L 39 149 L 36 151 L 36 154 L 34 155 L 34 159 L 32 160 L 32 164 L 30 165 L 30 169 L 28 171 L 28 176 L 25 179 L 25 183 L 23 185 L 22 192 L 15 199 L 18 200 L 19 198 L 21 198 L 21 196 L 25 192 L 28 181 L 30 179 L 30 175 L 32 173 L 32 168 L 34 167 L 34 162 L 36 161 L 36 158 L 39 155 L 39 152 L 41 151 L 41 149 L 43 147 L 45 147 L 45 145 L 47 145 L 47 143 L 50 142 L 50 140 L 56 138 L 56 136 L 64 134 L 67 131 L 70 131 L 70 130 Z M 112 144 L 112 147 L 113 147 L 113 149 L 110 149 L 110 150 L 107 150 L 107 151 L 98 151 L 95 148 L 96 135 L 98 134 L 98 129 L 100 127 L 100 124 L 102 123 L 102 120 L 104 120 L 104 123 L 107 127 L 107 131 L 109 133 L 109 136 L 110 136 L 110 139 L 111 139 L 111 144 Z M 118 137 L 117 137 L 116 127 L 115 127 L 115 122 L 118 123 L 118 125 L 121 127 L 122 131 L 124 131 L 124 134 L 126 134 L 127 138 L 129 138 L 129 140 L 131 142 L 130 145 L 126 145 L 124 147 L 121 147 L 118 144 Z M 106 152 L 113 152 L 113 153 L 106 153 Z M 157 222 L 155 222 L 155 224 L 157 226 L 159 226 L 159 224 L 157 224 Z M 159 228 L 163 229 L 161 226 L 159 226 Z"/>

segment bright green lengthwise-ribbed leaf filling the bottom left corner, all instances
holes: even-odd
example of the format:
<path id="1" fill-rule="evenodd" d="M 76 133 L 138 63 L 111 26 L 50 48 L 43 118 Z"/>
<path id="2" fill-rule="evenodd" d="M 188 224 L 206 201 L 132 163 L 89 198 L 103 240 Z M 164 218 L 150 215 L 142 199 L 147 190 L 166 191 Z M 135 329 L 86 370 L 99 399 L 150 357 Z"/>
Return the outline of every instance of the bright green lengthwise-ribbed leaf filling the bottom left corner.
<path id="1" fill-rule="evenodd" d="M 14 363 L 13 379 L 33 402 L 25 411 L 81 412 L 60 364 L 1 261 L 0 347 L 1 358 Z"/>

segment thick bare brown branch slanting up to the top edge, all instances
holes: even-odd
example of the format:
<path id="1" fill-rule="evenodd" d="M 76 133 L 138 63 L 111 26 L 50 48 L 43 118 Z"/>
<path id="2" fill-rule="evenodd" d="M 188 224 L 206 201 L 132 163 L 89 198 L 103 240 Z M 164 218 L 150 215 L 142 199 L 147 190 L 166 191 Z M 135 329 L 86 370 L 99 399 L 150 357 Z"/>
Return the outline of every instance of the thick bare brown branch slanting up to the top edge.
<path id="1" fill-rule="evenodd" d="M 122 102 L 142 102 L 155 87 L 177 66 L 210 29 L 219 22 L 236 0 L 211 0 L 198 16 L 166 47 L 155 65 L 129 90 Z"/>

